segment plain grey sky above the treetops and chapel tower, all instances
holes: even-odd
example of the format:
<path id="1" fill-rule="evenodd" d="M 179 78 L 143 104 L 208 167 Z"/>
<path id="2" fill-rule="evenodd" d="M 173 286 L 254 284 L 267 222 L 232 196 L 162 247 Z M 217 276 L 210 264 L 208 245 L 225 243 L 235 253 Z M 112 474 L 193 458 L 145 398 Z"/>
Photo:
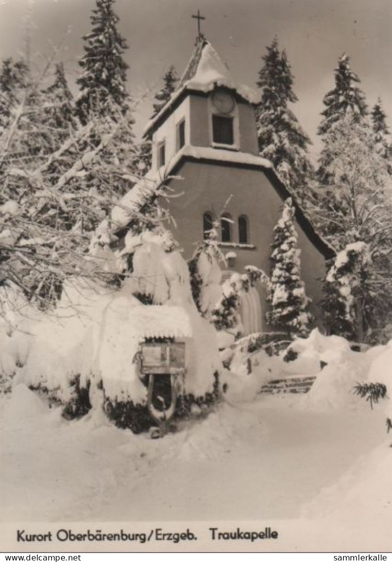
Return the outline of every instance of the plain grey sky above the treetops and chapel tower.
<path id="1" fill-rule="evenodd" d="M 75 61 L 83 53 L 80 38 L 90 29 L 95 0 L 0 0 L 0 58 L 23 49 L 29 2 L 34 21 L 31 51 L 48 52 L 51 43 L 64 39 L 59 58 L 74 80 Z M 130 47 L 125 55 L 129 89 L 135 99 L 152 89 L 136 108 L 136 133 L 149 117 L 153 92 L 167 67 L 174 64 L 181 74 L 188 62 L 197 34 L 191 16 L 198 9 L 207 17 L 207 39 L 234 78 L 250 86 L 257 80 L 265 47 L 278 36 L 295 77 L 299 101 L 294 113 L 316 141 L 313 156 L 322 97 L 334 84 L 333 70 L 343 52 L 352 58 L 368 105 L 380 96 L 392 125 L 392 0 L 117 0 L 120 30 Z"/>

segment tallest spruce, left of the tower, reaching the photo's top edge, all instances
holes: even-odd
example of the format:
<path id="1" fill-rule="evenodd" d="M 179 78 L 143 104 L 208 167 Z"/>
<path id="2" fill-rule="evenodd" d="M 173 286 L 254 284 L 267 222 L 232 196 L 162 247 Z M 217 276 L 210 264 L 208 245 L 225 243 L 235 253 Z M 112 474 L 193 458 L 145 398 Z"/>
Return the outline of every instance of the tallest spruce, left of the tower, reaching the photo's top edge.
<path id="1" fill-rule="evenodd" d="M 85 54 L 79 61 L 82 74 L 76 80 L 80 88 L 76 114 L 83 125 L 95 123 L 89 137 L 90 145 L 98 147 L 107 135 L 111 135 L 111 142 L 101 151 L 101 158 L 110 173 L 102 182 L 102 176 L 97 176 L 95 168 L 90 167 L 84 181 L 99 197 L 111 196 L 112 203 L 129 189 L 124 176 L 137 172 L 131 114 L 133 101 L 127 92 L 128 65 L 123 56 L 127 44 L 117 29 L 119 19 L 114 3 L 115 0 L 96 1 L 90 17 L 91 31 L 83 37 Z"/>

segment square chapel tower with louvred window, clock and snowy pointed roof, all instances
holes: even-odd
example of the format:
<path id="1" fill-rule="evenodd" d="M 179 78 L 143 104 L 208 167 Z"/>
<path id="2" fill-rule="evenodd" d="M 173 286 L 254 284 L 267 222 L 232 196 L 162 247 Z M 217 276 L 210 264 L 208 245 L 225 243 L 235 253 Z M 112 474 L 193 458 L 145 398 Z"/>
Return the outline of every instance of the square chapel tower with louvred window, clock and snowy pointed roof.
<path id="1" fill-rule="evenodd" d="M 183 147 L 258 156 L 256 102 L 250 88 L 235 83 L 211 43 L 200 39 L 174 94 L 145 128 L 152 136 L 153 170 Z"/>

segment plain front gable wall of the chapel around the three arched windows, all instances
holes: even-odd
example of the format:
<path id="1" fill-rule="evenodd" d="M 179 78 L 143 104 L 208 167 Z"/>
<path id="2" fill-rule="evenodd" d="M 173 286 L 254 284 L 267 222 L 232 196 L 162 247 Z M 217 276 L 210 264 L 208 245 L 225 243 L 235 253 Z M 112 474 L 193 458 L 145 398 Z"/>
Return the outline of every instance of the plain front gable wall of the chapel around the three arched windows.
<path id="1" fill-rule="evenodd" d="M 174 193 L 184 192 L 180 197 L 170 199 L 170 214 L 176 227 L 174 237 L 184 248 L 184 258 L 189 259 L 195 250 L 195 243 L 203 239 L 203 214 L 220 214 L 227 199 L 231 197 L 225 211 L 234 220 L 233 246 L 221 247 L 222 253 L 234 251 L 237 255 L 234 270 L 243 271 L 247 265 L 254 265 L 270 274 L 271 244 L 274 241 L 274 226 L 281 217 L 283 201 L 272 187 L 262 170 L 243 167 L 207 164 L 205 162 L 184 162 L 176 175 L 182 180 L 172 180 Z M 249 220 L 249 243 L 253 248 L 237 247 L 238 216 L 246 215 Z M 318 314 L 315 303 L 320 301 L 321 282 L 325 275 L 325 260 L 313 246 L 299 225 L 299 246 L 302 250 L 302 277 L 306 291 L 313 299 L 312 311 Z M 260 292 L 263 310 L 266 310 L 265 294 Z M 263 329 L 266 327 L 263 326 Z"/>

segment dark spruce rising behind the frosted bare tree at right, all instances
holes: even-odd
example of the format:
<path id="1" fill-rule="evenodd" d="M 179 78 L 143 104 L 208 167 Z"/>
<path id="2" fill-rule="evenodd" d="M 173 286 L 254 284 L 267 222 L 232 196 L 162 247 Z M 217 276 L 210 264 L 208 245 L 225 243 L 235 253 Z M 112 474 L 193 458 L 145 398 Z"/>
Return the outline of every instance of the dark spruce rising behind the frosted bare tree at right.
<path id="1" fill-rule="evenodd" d="M 335 69 L 335 86 L 323 98 L 325 110 L 322 111 L 323 119 L 318 126 L 318 134 L 321 135 L 323 147 L 317 177 L 322 185 L 329 185 L 333 182 L 330 165 L 334 155 L 330 153 L 326 135 L 347 115 L 351 115 L 355 123 L 361 122 L 367 115 L 366 99 L 358 86 L 359 83 L 361 80 L 358 75 L 351 70 L 350 57 L 343 53 L 339 57 L 338 67 Z"/>

